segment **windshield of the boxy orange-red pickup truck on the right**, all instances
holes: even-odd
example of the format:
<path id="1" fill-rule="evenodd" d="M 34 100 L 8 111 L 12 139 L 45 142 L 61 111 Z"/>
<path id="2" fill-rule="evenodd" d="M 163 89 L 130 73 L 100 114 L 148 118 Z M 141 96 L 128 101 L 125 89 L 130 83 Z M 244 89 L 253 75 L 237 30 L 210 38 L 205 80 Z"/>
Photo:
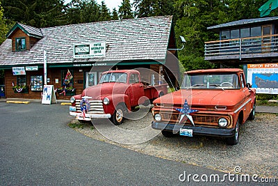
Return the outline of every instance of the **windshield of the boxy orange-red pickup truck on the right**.
<path id="1" fill-rule="evenodd" d="M 237 89 L 240 88 L 236 74 L 185 75 L 181 88 Z"/>

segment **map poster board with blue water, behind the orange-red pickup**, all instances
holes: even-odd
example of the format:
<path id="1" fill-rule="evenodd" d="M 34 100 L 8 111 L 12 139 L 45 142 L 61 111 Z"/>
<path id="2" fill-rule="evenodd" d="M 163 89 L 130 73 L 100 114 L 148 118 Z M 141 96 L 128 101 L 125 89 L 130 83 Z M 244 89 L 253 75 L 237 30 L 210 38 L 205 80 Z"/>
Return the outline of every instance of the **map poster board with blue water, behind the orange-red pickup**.
<path id="1" fill-rule="evenodd" d="M 278 94 L 278 63 L 248 64 L 247 83 L 256 93 Z"/>

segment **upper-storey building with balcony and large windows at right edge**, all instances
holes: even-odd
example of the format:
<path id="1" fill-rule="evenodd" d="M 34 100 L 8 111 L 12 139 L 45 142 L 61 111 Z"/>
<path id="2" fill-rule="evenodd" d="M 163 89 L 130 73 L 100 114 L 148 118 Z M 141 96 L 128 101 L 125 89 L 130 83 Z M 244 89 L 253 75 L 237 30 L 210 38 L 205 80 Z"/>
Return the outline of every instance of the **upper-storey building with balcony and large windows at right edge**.
<path id="1" fill-rule="evenodd" d="M 239 20 L 207 28 L 220 34 L 205 42 L 205 60 L 212 63 L 277 63 L 278 17 Z"/>

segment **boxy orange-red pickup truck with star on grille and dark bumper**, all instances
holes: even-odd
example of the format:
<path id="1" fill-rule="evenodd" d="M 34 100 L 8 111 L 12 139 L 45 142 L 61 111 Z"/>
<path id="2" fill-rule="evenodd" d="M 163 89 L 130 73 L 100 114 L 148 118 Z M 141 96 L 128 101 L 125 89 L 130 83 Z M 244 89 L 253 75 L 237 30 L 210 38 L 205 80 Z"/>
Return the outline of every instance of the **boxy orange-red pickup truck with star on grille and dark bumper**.
<path id="1" fill-rule="evenodd" d="M 239 125 L 255 118 L 256 90 L 236 68 L 193 70 L 181 90 L 154 100 L 152 127 L 165 137 L 208 135 L 238 144 Z"/>

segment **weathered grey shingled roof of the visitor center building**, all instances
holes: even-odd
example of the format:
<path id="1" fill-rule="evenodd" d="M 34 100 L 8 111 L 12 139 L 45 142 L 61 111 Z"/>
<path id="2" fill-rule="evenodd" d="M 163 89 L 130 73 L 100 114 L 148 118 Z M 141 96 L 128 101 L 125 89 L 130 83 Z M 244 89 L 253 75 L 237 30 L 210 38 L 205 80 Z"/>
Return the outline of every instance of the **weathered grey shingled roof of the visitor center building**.
<path id="1" fill-rule="evenodd" d="M 131 20 L 72 24 L 42 29 L 19 24 L 26 31 L 41 31 L 43 36 L 24 52 L 12 52 L 12 40 L 0 46 L 0 65 L 42 64 L 44 50 L 47 63 L 161 61 L 165 62 L 170 39 L 172 16 L 147 17 Z M 73 45 L 106 42 L 106 57 L 73 59 Z"/>

